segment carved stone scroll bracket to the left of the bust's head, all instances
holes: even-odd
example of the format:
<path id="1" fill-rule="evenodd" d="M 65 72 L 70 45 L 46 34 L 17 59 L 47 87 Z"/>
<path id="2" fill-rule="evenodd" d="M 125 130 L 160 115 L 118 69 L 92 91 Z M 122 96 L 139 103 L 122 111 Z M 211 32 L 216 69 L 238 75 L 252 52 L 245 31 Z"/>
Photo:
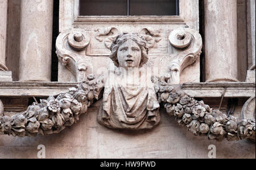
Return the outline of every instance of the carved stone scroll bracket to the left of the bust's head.
<path id="1" fill-rule="evenodd" d="M 68 29 L 60 33 L 56 40 L 57 57 L 60 63 L 76 77 L 77 82 L 84 80 L 89 66 L 86 62 L 80 62 L 77 52 L 86 48 L 89 42 L 89 32 L 80 28 Z"/>

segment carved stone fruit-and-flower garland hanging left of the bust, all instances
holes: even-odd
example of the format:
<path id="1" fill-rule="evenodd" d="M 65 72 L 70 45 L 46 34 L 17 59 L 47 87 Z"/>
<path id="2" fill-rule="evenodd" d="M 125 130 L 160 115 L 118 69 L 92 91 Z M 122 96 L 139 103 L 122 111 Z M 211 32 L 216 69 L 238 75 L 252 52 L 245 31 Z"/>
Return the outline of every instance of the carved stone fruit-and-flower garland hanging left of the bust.
<path id="1" fill-rule="evenodd" d="M 12 117 L 0 115 L 0 134 L 14 137 L 36 137 L 59 133 L 65 127 L 71 126 L 87 108 L 98 100 L 104 88 L 103 77 L 96 79 L 89 75 L 86 82 L 70 88 L 69 92 L 60 94 L 56 98 L 49 96 L 47 100 L 40 100 L 40 104 L 33 103 L 22 114 Z"/>

